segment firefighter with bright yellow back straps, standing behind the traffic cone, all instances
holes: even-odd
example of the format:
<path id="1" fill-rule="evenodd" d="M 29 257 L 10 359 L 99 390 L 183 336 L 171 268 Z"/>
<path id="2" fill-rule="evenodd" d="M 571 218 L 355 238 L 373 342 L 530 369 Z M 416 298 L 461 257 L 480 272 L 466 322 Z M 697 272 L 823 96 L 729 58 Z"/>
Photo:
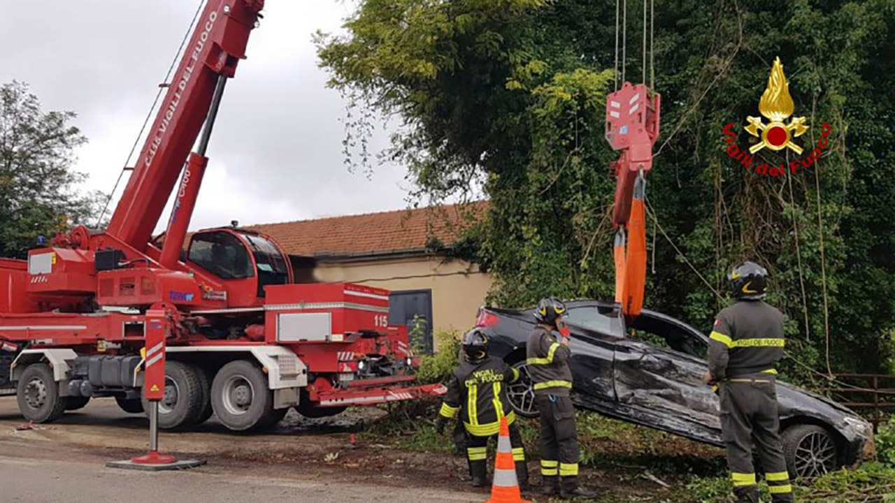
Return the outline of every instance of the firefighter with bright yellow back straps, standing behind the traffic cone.
<path id="1" fill-rule="evenodd" d="M 528 467 L 522 436 L 516 427 L 516 413 L 507 399 L 507 384 L 519 379 L 519 371 L 503 360 L 489 356 L 488 337 L 478 328 L 463 338 L 463 357 L 447 384 L 436 428 L 444 431 L 448 420 L 459 413 L 466 430 L 466 458 L 473 487 L 488 485 L 488 439 L 500 430 L 500 418 L 506 417 L 509 439 L 519 487 L 527 490 Z"/>

